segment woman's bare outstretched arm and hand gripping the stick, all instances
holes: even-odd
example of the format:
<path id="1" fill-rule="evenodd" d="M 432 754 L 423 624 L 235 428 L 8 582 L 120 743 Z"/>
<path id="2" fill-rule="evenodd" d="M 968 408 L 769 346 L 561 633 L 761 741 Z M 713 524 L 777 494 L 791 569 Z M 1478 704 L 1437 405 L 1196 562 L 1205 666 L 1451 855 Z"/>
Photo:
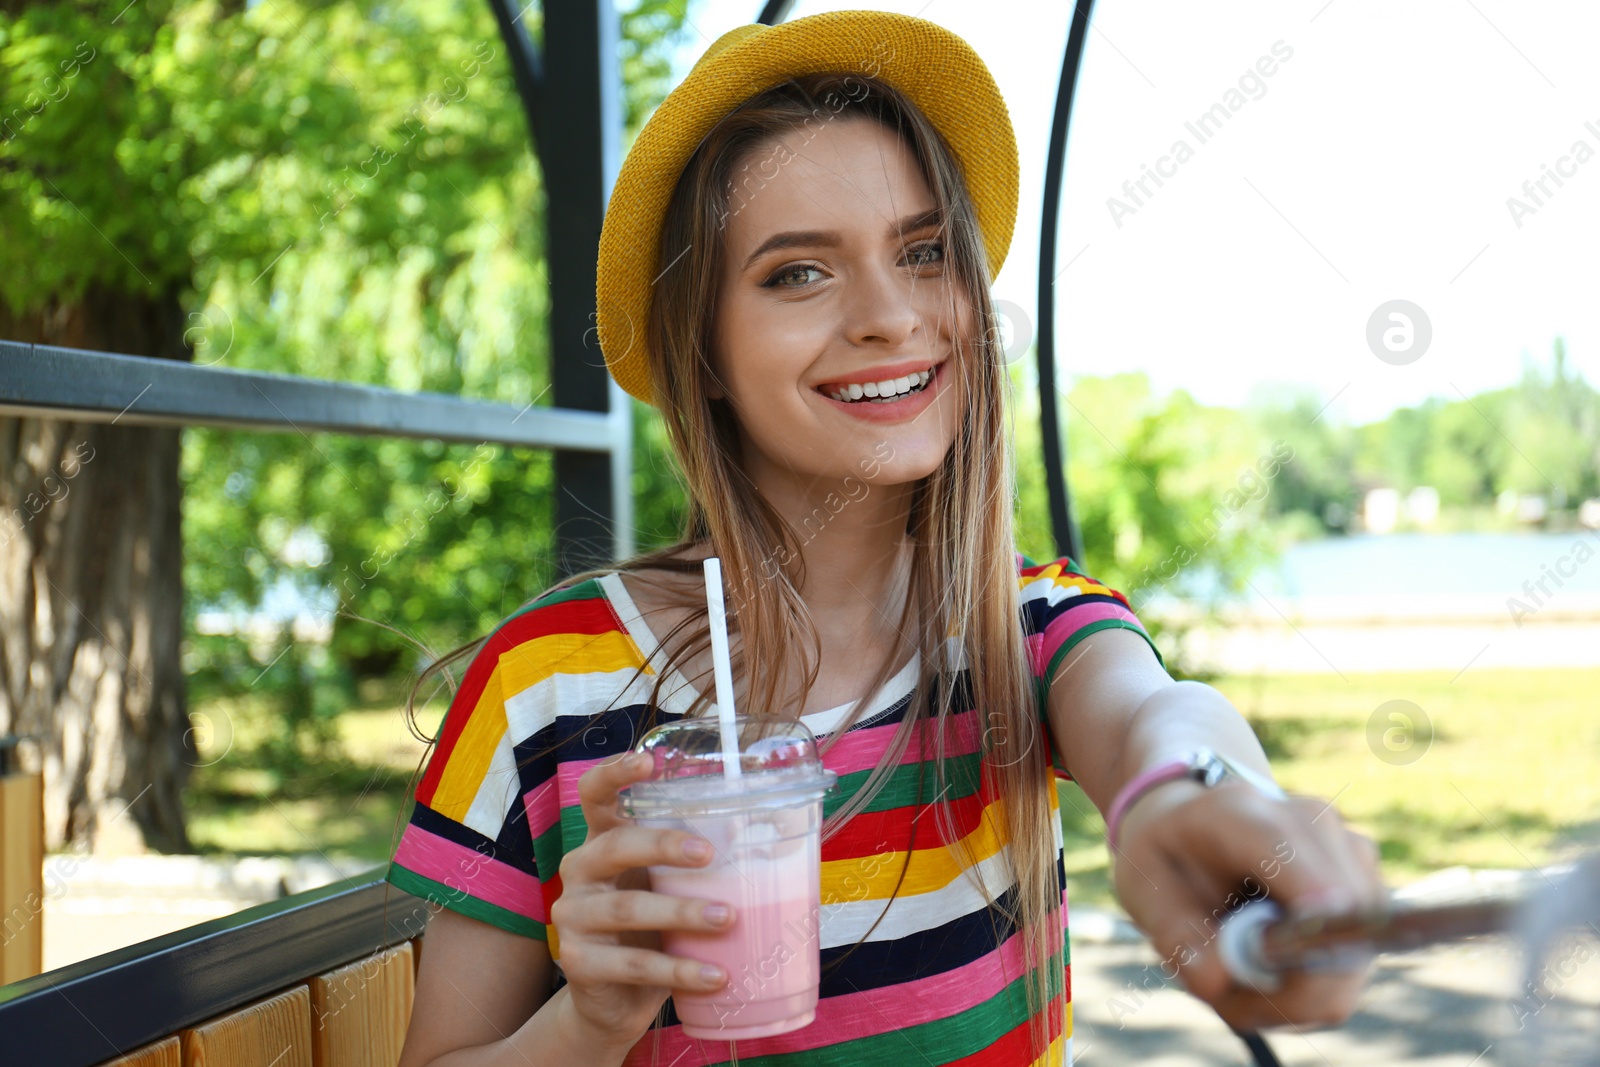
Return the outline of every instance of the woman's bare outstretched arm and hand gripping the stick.
<path id="1" fill-rule="evenodd" d="M 1202 747 L 1270 774 L 1227 697 L 1200 681 L 1173 681 L 1131 630 L 1078 641 L 1050 680 L 1048 712 L 1058 752 L 1101 813 L 1142 771 Z M 1304 915 L 1384 899 L 1373 843 L 1346 829 L 1331 803 L 1274 800 L 1237 781 L 1157 785 L 1123 816 L 1112 877 L 1163 974 L 1181 976 L 1230 1025 L 1342 1022 L 1355 1008 L 1363 974 L 1291 974 L 1264 995 L 1229 979 L 1214 941 L 1229 910 L 1264 894 Z"/>

